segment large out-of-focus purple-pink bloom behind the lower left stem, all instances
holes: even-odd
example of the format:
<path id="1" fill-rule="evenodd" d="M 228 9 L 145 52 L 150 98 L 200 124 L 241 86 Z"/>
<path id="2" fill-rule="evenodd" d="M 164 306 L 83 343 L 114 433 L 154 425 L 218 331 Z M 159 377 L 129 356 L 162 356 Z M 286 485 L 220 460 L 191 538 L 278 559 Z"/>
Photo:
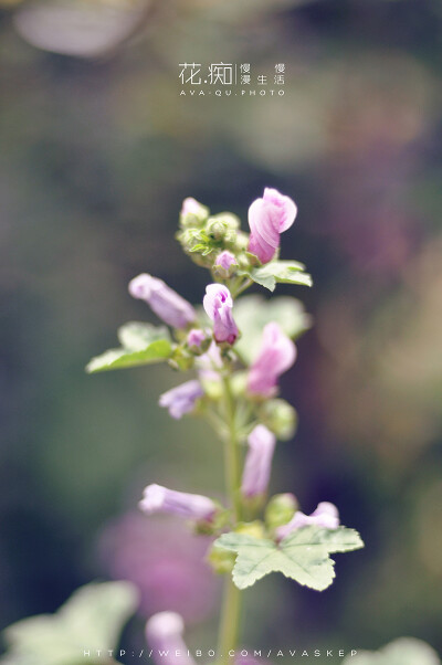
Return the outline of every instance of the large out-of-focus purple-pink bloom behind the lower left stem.
<path id="1" fill-rule="evenodd" d="M 180 517 L 146 519 L 130 510 L 105 526 L 98 551 L 112 579 L 139 589 L 143 616 L 173 610 L 198 624 L 214 611 L 220 591 L 218 576 L 204 562 L 210 543 Z"/>

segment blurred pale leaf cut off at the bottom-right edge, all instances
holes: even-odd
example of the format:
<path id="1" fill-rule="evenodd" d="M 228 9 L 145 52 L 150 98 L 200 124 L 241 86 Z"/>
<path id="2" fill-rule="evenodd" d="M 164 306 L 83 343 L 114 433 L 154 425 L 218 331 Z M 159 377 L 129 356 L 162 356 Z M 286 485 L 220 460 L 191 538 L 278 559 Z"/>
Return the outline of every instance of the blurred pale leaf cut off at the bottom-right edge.
<path id="1" fill-rule="evenodd" d="M 421 640 L 401 637 L 377 652 L 361 651 L 347 656 L 343 665 L 441 665 L 431 646 Z"/>

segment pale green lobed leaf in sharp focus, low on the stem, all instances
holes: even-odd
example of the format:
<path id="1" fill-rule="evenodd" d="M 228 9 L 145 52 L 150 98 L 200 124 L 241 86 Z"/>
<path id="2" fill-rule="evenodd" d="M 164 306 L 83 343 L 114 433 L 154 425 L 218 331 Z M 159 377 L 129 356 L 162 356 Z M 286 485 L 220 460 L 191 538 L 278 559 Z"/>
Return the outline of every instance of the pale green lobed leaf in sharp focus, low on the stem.
<path id="1" fill-rule="evenodd" d="M 218 547 L 236 552 L 233 582 L 246 589 L 271 572 L 282 572 L 311 589 L 323 591 L 335 578 L 335 562 L 329 555 L 347 552 L 364 547 L 359 534 L 352 529 L 297 529 L 278 545 L 267 538 L 259 539 L 244 534 L 223 534 Z"/>

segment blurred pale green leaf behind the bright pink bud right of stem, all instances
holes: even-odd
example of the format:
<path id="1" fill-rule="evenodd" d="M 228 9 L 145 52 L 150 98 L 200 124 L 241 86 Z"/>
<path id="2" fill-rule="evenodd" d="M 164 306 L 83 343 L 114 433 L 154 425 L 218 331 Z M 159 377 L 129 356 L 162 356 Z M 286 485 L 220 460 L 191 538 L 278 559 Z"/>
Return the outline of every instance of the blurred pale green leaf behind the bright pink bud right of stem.
<path id="1" fill-rule="evenodd" d="M 235 350 L 251 363 L 261 347 L 261 337 L 266 324 L 274 321 L 287 337 L 296 339 L 311 327 L 311 317 L 304 305 L 291 296 L 278 296 L 266 300 L 261 295 L 243 296 L 235 300 L 234 319 L 241 330 Z"/>

